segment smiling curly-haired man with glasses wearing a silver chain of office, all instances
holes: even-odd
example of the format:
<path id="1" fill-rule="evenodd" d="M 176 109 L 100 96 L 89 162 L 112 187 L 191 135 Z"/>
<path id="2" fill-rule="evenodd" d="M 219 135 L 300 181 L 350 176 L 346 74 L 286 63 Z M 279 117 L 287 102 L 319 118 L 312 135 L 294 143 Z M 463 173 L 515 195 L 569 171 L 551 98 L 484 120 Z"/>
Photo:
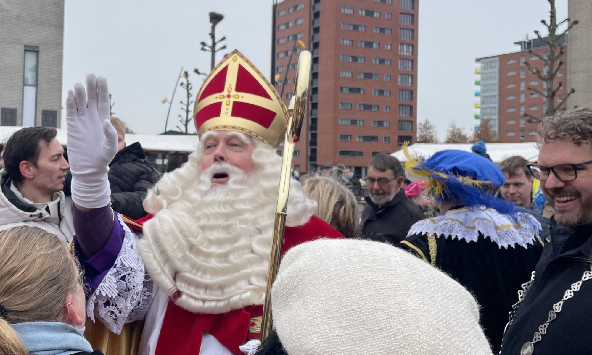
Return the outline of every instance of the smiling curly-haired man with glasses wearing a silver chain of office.
<path id="1" fill-rule="evenodd" d="M 510 312 L 502 355 L 587 354 L 592 348 L 592 109 L 539 125 L 529 164 L 549 204 L 551 242 Z M 564 227 L 566 228 L 564 228 Z"/>

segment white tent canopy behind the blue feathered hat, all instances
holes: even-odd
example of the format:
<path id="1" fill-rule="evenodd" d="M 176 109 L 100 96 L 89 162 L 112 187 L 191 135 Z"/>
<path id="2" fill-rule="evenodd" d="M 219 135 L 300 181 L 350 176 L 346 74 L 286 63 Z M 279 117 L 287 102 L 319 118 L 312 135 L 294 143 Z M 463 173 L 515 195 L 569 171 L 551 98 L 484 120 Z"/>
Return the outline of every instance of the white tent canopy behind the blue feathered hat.
<path id="1" fill-rule="evenodd" d="M 421 154 L 424 157 L 430 157 L 437 151 L 446 149 L 456 149 L 471 151 L 473 144 L 424 144 L 416 143 L 409 146 L 409 151 Z M 529 162 L 536 162 L 539 159 L 539 149 L 536 143 L 487 143 L 487 154 L 494 163 L 501 163 L 504 159 L 511 156 L 522 156 Z M 401 162 L 405 160 L 403 150 L 395 151 L 394 156 Z"/>

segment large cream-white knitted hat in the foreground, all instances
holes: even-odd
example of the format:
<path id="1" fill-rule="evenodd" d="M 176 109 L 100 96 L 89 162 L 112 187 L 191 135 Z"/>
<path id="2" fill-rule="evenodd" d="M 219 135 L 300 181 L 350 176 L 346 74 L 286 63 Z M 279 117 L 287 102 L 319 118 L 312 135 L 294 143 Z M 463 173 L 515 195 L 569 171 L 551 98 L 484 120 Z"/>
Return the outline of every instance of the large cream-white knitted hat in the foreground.
<path id="1" fill-rule="evenodd" d="M 271 295 L 289 355 L 491 355 L 471 294 L 390 244 L 300 244 L 282 259 Z"/>

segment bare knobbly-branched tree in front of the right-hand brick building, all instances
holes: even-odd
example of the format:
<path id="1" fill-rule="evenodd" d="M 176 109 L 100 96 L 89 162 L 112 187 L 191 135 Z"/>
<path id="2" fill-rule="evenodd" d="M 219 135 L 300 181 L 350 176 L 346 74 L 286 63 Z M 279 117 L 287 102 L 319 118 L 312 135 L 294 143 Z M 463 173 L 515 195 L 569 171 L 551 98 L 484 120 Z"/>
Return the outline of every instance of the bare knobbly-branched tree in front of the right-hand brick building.
<path id="1" fill-rule="evenodd" d="M 565 20 L 557 23 L 557 11 L 555 9 L 555 0 L 547 1 L 549 2 L 549 5 L 551 5 L 551 9 L 549 10 L 549 23 L 547 23 L 546 20 L 541 20 L 540 23 L 545 25 L 545 27 L 549 31 L 549 36 L 547 38 L 543 38 L 540 35 L 539 31 L 535 31 L 535 34 L 536 37 L 539 38 L 539 40 L 543 41 L 543 43 L 549 46 L 549 55 L 547 58 L 545 58 L 544 56 L 540 56 L 538 53 L 533 52 L 532 49 L 528 51 L 528 53 L 532 54 L 535 57 L 538 57 L 538 59 L 541 59 L 543 61 L 543 63 L 545 64 L 543 70 L 540 70 L 540 68 L 538 67 L 533 67 L 532 65 L 530 65 L 530 63 L 525 62 L 525 65 L 528 68 L 528 70 L 531 73 L 533 73 L 537 78 L 539 78 L 542 82 L 546 83 L 547 88 L 545 92 L 540 92 L 536 88 L 532 88 L 530 86 L 528 87 L 528 90 L 542 95 L 543 98 L 546 99 L 547 104 L 547 109 L 545 110 L 545 112 L 543 112 L 543 117 L 541 118 L 535 117 L 526 112 L 524 113 L 524 117 L 528 118 L 529 122 L 535 123 L 544 120 L 545 117 L 552 117 L 553 115 L 555 115 L 555 113 L 559 109 L 561 109 L 561 106 L 564 104 L 564 102 L 567 101 L 567 98 L 575 92 L 575 89 L 572 88 L 570 92 L 568 92 L 567 95 L 565 95 L 565 98 L 563 98 L 562 102 L 559 102 L 559 104 L 555 106 L 556 93 L 559 91 L 559 89 L 563 87 L 564 84 L 560 81 L 559 83 L 557 83 L 556 86 L 554 85 L 555 76 L 557 75 L 559 70 L 561 70 L 561 67 L 564 64 L 563 57 L 565 55 L 565 48 L 561 43 L 559 43 L 559 40 L 569 30 L 571 30 L 572 27 L 577 25 L 578 21 L 571 21 L 569 18 L 566 18 Z M 567 28 L 561 33 L 557 33 L 558 27 L 565 23 L 567 23 Z M 557 51 L 558 49 L 559 52 Z"/>

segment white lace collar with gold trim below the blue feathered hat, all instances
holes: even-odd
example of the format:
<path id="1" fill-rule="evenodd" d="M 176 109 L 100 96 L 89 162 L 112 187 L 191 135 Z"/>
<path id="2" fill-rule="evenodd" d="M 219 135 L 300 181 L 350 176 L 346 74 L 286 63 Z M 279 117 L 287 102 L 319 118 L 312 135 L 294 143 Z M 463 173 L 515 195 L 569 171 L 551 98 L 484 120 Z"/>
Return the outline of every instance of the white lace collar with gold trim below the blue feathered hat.
<path id="1" fill-rule="evenodd" d="M 494 209 L 461 208 L 449 211 L 446 215 L 427 218 L 414 224 L 407 236 L 414 234 L 437 235 L 445 238 L 477 241 L 479 234 L 489 237 L 500 248 L 514 247 L 516 244 L 527 247 L 534 244 L 536 235 L 542 228 L 539 221 L 530 214 L 519 213 L 518 222 Z"/>

